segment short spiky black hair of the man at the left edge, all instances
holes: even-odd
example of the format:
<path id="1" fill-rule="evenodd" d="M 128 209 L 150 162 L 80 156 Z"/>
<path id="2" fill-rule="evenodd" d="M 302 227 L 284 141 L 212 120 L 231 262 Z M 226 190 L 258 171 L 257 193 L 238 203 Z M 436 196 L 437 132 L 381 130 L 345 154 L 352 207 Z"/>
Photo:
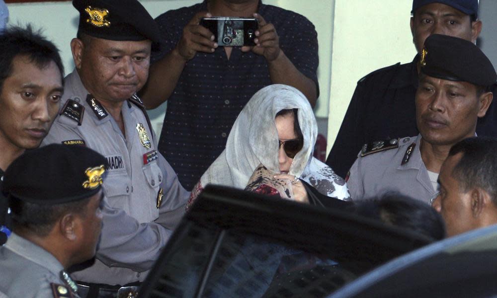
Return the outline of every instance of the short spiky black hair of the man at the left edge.
<path id="1" fill-rule="evenodd" d="M 3 82 L 12 74 L 12 61 L 17 56 L 27 56 L 40 69 L 53 61 L 61 73 L 64 82 L 64 65 L 59 49 L 40 31 L 34 31 L 31 25 L 26 28 L 8 26 L 0 31 L 0 91 Z"/>

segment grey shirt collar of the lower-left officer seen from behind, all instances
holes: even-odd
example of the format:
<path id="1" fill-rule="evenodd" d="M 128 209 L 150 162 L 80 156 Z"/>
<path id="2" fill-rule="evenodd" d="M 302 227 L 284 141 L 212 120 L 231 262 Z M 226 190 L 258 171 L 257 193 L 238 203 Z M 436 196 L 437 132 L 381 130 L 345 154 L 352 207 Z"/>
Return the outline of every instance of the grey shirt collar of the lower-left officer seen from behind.
<path id="1" fill-rule="evenodd" d="M 64 270 L 59 260 L 51 253 L 14 232 L 8 237 L 4 246 L 21 257 L 47 268 L 56 276 Z"/>

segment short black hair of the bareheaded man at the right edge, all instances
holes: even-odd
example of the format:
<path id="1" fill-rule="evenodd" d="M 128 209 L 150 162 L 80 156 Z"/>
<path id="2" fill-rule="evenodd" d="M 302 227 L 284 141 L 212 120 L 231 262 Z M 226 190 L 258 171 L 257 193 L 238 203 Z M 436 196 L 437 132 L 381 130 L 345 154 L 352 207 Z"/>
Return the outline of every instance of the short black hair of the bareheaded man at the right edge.
<path id="1" fill-rule="evenodd" d="M 497 206 L 497 139 L 474 137 L 456 143 L 449 156 L 462 153 L 454 166 L 452 177 L 459 181 L 461 191 L 481 188 L 489 193 Z"/>

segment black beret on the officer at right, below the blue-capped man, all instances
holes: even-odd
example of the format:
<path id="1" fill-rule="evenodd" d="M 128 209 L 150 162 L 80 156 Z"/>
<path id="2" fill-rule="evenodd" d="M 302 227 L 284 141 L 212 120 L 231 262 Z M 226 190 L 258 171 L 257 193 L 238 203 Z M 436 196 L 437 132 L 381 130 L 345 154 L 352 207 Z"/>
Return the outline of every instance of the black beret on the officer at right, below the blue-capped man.
<path id="1" fill-rule="evenodd" d="M 475 44 L 465 39 L 433 34 L 424 41 L 420 55 L 423 74 L 479 86 L 496 83 L 494 66 Z"/>

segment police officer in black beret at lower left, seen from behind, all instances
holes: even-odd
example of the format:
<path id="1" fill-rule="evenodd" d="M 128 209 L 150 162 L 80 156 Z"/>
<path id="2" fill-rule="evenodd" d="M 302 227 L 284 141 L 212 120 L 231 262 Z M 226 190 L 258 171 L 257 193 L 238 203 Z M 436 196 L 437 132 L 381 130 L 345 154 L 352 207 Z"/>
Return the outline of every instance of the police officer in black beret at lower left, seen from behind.
<path id="1" fill-rule="evenodd" d="M 65 271 L 95 255 L 106 159 L 58 144 L 27 151 L 5 172 L 13 233 L 0 247 L 0 294 L 79 297 Z"/>

